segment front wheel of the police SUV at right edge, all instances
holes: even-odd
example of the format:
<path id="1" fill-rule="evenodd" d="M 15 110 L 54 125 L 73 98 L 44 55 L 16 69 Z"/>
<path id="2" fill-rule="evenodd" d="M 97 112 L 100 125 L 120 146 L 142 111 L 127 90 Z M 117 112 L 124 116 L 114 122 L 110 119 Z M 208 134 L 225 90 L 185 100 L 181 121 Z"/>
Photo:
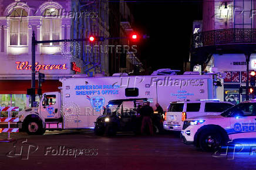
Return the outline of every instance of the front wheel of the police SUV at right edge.
<path id="1" fill-rule="evenodd" d="M 199 138 L 199 144 L 203 151 L 213 152 L 221 147 L 223 138 L 218 132 L 202 132 Z"/>

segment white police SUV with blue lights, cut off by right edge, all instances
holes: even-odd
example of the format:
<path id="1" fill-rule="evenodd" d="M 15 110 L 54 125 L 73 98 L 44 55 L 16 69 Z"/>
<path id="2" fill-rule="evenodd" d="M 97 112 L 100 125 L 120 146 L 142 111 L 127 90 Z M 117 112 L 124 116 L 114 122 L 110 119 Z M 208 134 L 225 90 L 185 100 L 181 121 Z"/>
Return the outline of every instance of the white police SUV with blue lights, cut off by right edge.
<path id="1" fill-rule="evenodd" d="M 214 151 L 230 140 L 256 138 L 256 100 L 245 101 L 221 115 L 194 117 L 184 121 L 181 131 L 186 144 Z"/>

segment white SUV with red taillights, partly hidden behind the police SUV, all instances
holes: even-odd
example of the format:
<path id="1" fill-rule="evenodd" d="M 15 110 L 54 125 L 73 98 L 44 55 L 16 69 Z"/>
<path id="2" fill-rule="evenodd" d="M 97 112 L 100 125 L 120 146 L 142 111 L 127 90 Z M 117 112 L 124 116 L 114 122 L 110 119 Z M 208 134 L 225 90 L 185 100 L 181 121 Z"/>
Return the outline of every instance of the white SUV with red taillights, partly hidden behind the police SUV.
<path id="1" fill-rule="evenodd" d="M 234 104 L 219 100 L 178 101 L 170 103 L 164 118 L 164 129 L 181 131 L 186 118 L 220 115 Z"/>

